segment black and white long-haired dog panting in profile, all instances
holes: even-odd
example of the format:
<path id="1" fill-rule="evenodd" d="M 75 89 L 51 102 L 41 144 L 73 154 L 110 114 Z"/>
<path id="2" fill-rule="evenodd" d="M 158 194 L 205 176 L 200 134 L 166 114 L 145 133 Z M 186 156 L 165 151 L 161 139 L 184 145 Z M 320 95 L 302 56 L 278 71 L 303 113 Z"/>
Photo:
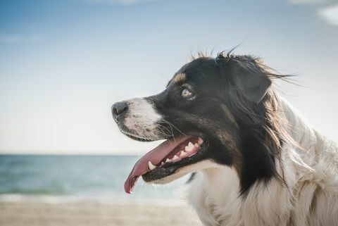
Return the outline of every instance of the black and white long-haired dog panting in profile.
<path id="1" fill-rule="evenodd" d="M 125 182 L 183 175 L 204 225 L 338 225 L 338 146 L 273 87 L 288 80 L 259 58 L 221 52 L 185 64 L 160 94 L 113 104 L 120 131 L 165 141 Z"/>

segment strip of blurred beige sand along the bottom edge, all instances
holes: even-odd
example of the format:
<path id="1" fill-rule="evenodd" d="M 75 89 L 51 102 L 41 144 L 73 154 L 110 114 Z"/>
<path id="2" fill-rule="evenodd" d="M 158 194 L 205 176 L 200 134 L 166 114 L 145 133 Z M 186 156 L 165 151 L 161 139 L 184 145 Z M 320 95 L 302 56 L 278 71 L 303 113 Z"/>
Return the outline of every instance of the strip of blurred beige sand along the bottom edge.
<path id="1" fill-rule="evenodd" d="M 189 206 L 96 202 L 0 202 L 1 226 L 201 225 Z"/>

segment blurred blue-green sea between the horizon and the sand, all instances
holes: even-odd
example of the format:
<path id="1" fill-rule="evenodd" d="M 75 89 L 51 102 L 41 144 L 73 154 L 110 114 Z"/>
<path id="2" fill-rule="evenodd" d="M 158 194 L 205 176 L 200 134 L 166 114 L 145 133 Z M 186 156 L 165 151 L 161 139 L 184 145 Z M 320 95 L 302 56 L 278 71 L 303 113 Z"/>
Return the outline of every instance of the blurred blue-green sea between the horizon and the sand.
<path id="1" fill-rule="evenodd" d="M 177 187 L 187 176 L 161 186 L 139 178 L 133 193 L 123 184 L 138 156 L 0 155 L 0 201 L 120 201 L 180 203 Z M 178 194 L 177 194 L 178 193 Z"/>

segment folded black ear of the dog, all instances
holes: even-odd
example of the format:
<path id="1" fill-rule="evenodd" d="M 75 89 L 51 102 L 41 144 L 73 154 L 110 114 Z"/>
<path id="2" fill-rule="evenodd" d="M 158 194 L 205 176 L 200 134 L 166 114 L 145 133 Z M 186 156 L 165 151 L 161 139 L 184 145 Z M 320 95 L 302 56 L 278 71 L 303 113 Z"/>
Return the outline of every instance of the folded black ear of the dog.
<path id="1" fill-rule="evenodd" d="M 268 92 L 271 80 L 256 61 L 235 61 L 231 67 L 232 78 L 246 99 L 259 103 Z"/>

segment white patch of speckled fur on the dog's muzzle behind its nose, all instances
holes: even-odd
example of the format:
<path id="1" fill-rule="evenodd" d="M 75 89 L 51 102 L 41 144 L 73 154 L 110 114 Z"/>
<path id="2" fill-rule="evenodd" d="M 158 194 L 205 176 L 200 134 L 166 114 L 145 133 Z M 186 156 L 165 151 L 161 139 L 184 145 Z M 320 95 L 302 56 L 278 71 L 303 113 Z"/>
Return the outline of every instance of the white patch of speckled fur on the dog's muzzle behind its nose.
<path id="1" fill-rule="evenodd" d="M 160 134 L 156 123 L 161 120 L 161 115 L 155 111 L 154 106 L 143 98 L 131 99 L 127 103 L 128 113 L 124 125 L 134 133 L 123 132 L 143 139 L 158 139 Z"/>

